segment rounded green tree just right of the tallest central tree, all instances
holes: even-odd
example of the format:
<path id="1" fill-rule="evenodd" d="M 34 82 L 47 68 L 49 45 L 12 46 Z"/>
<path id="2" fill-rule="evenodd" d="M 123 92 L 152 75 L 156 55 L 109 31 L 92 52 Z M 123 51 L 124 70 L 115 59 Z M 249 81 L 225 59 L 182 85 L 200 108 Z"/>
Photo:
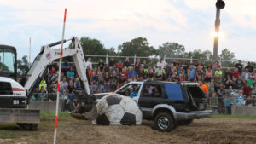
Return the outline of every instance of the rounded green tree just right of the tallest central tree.
<path id="1" fill-rule="evenodd" d="M 163 43 L 159 46 L 158 53 L 160 57 L 170 57 L 170 58 L 178 58 L 182 57 L 185 52 L 185 47 L 183 45 L 180 45 L 178 43 Z"/>

